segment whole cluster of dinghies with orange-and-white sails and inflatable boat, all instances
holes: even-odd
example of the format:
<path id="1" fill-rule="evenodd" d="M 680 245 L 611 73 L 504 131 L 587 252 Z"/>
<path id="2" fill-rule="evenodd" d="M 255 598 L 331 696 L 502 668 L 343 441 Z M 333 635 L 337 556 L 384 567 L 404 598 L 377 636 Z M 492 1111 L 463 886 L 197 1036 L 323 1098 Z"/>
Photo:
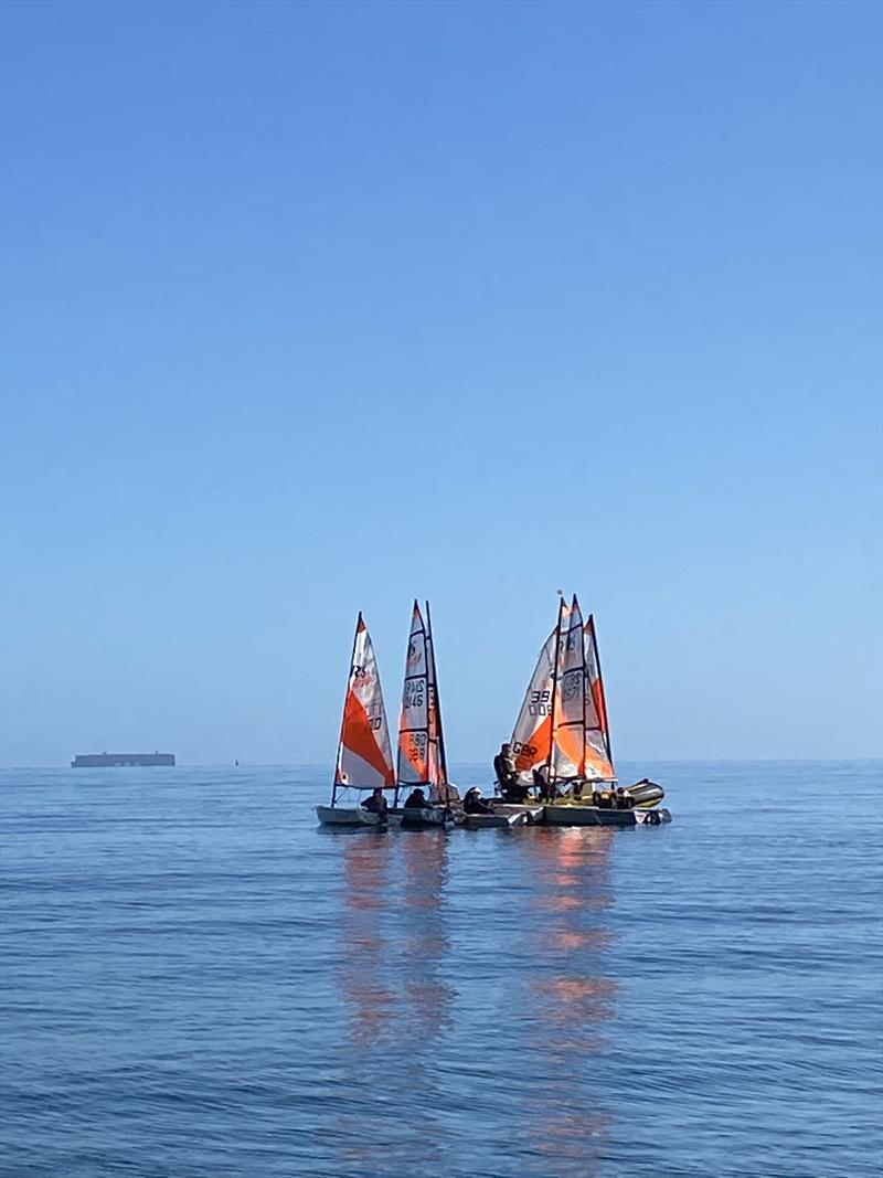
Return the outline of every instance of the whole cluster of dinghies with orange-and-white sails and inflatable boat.
<path id="1" fill-rule="evenodd" d="M 559 600 L 555 629 L 539 651 L 504 748 L 510 781 L 498 780 L 497 796 L 479 807 L 470 806 L 469 795 L 464 806 L 447 775 L 430 605 L 425 603 L 424 616 L 414 601 L 393 763 L 374 649 L 359 614 L 331 803 L 317 806 L 317 816 L 334 827 L 445 829 L 537 822 L 636 826 L 671 819 L 659 806 L 662 786 L 648 779 L 619 786 L 595 620 L 583 621 L 576 595 L 570 605 Z"/>

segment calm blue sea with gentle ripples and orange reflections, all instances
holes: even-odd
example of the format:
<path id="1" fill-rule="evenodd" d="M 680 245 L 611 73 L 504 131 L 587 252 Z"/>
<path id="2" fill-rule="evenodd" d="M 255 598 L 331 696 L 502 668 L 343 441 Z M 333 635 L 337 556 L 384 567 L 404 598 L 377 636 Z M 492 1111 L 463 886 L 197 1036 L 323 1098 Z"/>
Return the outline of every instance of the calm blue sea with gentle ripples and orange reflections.
<path id="1" fill-rule="evenodd" d="M 670 826 L 447 835 L 6 770 L 2 1173 L 879 1174 L 881 766 L 648 770 Z"/>

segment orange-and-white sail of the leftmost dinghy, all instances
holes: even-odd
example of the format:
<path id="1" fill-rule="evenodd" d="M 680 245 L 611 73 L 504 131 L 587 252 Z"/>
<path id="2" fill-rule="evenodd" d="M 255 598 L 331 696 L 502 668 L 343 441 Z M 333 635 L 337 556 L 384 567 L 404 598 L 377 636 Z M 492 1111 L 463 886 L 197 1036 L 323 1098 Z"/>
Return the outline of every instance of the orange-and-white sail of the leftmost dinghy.
<path id="1" fill-rule="evenodd" d="M 392 788 L 390 730 L 371 635 L 359 614 L 337 750 L 334 786 Z"/>

